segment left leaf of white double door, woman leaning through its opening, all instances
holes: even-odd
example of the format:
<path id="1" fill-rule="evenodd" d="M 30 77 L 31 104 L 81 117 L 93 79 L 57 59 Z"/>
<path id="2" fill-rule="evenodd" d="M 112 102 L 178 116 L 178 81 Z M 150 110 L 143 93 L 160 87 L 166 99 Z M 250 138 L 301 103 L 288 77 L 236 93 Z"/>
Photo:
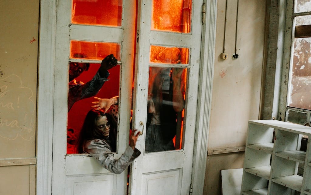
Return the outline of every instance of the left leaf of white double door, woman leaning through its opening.
<path id="1" fill-rule="evenodd" d="M 73 10 L 80 3 L 81 12 L 87 10 L 81 3 L 106 3 L 97 0 L 66 0 L 57 3 L 56 53 L 55 53 L 55 94 L 53 121 L 53 164 L 52 164 L 52 193 L 55 195 L 78 194 L 126 194 L 128 171 L 113 174 L 99 165 L 86 154 L 67 154 L 67 93 L 68 93 L 68 61 L 99 63 L 101 59 L 73 59 L 71 56 L 72 41 L 83 41 L 98 46 L 101 43 L 112 43 L 120 47 L 118 63 L 120 64 L 119 86 L 119 121 L 118 143 L 115 157 L 119 157 L 128 145 L 131 110 L 132 72 L 135 46 L 135 15 L 136 2 L 127 0 L 112 0 L 118 13 L 122 11 L 120 25 L 74 24 Z M 75 4 L 77 3 L 77 4 Z M 94 8 L 96 7 L 92 5 Z M 88 12 L 93 10 L 88 9 Z M 95 10 L 94 10 L 95 11 Z M 98 10 L 97 10 L 98 11 Z M 110 10 L 105 13 L 111 14 Z M 103 10 L 104 12 L 104 10 Z M 86 13 L 87 14 L 87 13 Z M 83 14 L 81 14 L 83 16 Z M 81 16 L 80 15 L 80 16 Z M 84 16 L 83 16 L 84 17 Z M 87 16 L 88 17 L 88 16 Z M 97 19 L 90 16 L 88 21 Z M 120 20 L 120 18 L 118 18 Z M 119 21 L 118 21 L 119 24 Z M 94 44 L 95 43 L 95 44 Z M 94 49 L 93 47 L 90 49 Z M 105 48 L 104 48 L 105 49 Z M 107 48 L 106 48 L 107 49 Z M 115 48 L 111 48 L 114 50 Z M 118 51 L 118 50 L 117 50 Z M 88 54 L 88 53 L 87 53 Z M 108 83 L 107 81 L 106 83 Z M 104 85 L 106 85 L 106 83 Z M 114 85 L 109 83 L 108 85 Z M 118 85 L 116 85 L 118 86 Z M 102 89 L 103 90 L 103 89 Z M 100 97 L 101 98 L 101 97 Z M 93 100 L 94 101 L 94 100 Z M 91 109 L 91 108 L 90 108 Z M 79 113 L 78 113 L 79 114 Z M 82 113 L 81 113 L 82 114 Z M 85 113 L 84 113 L 85 114 Z M 38 146 L 39 147 L 39 146 Z"/>

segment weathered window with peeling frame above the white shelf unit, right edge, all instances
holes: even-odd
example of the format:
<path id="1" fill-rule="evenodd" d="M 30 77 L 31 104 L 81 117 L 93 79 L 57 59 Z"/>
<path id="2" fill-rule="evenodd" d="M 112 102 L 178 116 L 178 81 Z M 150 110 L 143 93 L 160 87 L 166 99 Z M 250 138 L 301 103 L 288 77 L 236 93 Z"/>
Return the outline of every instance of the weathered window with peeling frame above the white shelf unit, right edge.
<path id="1" fill-rule="evenodd" d="M 287 84 L 285 121 L 310 126 L 311 0 L 293 0 L 286 6 L 284 42 L 290 46 L 287 46 L 289 52 L 286 52 L 286 45 L 284 46 L 283 69 L 288 68 L 288 76 L 284 71 L 282 75 L 282 80 Z M 292 31 L 286 36 L 290 29 Z"/>

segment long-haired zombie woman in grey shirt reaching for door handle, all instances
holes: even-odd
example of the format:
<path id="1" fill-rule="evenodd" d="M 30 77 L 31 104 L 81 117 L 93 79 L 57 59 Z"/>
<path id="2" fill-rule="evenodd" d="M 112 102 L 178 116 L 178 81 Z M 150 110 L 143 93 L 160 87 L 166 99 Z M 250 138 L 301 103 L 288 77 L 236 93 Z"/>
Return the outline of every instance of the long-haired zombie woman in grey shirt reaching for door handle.
<path id="1" fill-rule="evenodd" d="M 111 115 L 92 109 L 86 115 L 77 141 L 77 153 L 89 153 L 108 171 L 122 173 L 141 152 L 135 148 L 139 132 L 130 132 L 129 145 L 120 158 L 116 152 L 117 128 Z"/>

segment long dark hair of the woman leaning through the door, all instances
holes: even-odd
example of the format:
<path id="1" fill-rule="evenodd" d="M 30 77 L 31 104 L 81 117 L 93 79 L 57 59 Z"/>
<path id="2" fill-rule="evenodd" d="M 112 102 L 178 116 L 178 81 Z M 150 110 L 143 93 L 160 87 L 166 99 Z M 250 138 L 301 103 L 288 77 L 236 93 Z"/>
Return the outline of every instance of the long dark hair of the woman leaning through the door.
<path id="1" fill-rule="evenodd" d="M 112 122 L 112 117 L 108 113 L 104 113 L 102 110 L 95 111 L 94 109 L 90 110 L 85 119 L 84 123 L 82 125 L 81 131 L 79 133 L 79 137 L 76 142 L 76 152 L 78 154 L 84 153 L 83 151 L 83 145 L 85 141 L 94 140 L 94 139 L 101 139 L 106 140 L 107 137 L 104 137 L 103 133 L 98 130 L 95 126 L 96 120 L 100 116 L 106 116 L 109 122 L 110 126 L 110 132 L 109 132 L 109 145 L 111 147 L 111 151 L 115 152 L 116 148 L 116 128 L 114 127 L 114 124 Z"/>

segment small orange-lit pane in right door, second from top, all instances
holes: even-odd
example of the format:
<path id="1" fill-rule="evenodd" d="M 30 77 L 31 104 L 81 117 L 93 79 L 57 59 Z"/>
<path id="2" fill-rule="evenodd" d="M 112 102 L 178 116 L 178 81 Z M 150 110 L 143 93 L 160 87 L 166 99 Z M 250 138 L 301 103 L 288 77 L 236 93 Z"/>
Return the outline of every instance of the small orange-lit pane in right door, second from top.
<path id="1" fill-rule="evenodd" d="M 151 46 L 150 62 L 188 64 L 189 48 Z"/>

